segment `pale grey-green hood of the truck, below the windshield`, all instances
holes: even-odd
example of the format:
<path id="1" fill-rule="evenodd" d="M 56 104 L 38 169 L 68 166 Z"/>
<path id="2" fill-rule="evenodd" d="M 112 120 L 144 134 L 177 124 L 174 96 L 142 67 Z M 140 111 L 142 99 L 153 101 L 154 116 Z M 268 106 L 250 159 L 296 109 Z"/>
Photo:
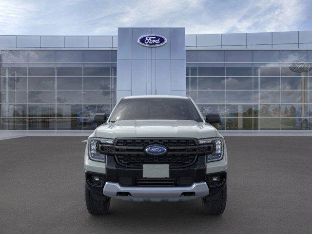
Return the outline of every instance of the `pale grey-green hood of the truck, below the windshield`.
<path id="1" fill-rule="evenodd" d="M 216 137 L 216 129 L 193 120 L 119 120 L 105 123 L 96 129 L 96 137 Z"/>

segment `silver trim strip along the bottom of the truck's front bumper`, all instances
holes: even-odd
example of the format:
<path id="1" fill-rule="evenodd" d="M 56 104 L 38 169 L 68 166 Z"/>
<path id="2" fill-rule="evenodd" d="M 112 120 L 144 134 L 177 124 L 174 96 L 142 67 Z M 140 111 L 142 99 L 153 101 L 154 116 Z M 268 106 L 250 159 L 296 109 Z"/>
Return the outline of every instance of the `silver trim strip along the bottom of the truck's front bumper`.
<path id="1" fill-rule="evenodd" d="M 118 192 L 127 192 L 131 196 L 119 196 Z M 181 196 L 184 192 L 194 192 L 193 196 Z M 189 187 L 123 187 L 118 183 L 106 182 L 103 194 L 122 200 L 132 201 L 180 201 L 207 196 L 209 188 L 206 182 L 194 183 Z"/>

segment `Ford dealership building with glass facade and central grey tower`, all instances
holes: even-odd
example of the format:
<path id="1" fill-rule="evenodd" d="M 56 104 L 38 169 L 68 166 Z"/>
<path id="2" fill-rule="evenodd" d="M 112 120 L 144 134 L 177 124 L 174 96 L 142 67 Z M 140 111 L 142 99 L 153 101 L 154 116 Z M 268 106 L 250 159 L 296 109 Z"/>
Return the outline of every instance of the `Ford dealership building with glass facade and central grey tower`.
<path id="1" fill-rule="evenodd" d="M 312 31 L 0 36 L 0 130 L 93 130 L 130 95 L 179 95 L 224 131 L 312 130 Z"/>

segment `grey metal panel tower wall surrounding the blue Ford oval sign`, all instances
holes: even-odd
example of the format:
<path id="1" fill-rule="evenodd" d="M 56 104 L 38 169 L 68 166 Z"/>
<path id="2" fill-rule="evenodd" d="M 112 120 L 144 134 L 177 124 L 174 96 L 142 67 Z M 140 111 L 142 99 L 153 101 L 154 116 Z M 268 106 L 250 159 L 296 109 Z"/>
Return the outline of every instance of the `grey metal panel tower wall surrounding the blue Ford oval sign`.
<path id="1" fill-rule="evenodd" d="M 143 35 L 165 37 L 163 46 L 137 43 Z M 117 100 L 125 94 L 185 96 L 185 29 L 118 28 Z"/>

